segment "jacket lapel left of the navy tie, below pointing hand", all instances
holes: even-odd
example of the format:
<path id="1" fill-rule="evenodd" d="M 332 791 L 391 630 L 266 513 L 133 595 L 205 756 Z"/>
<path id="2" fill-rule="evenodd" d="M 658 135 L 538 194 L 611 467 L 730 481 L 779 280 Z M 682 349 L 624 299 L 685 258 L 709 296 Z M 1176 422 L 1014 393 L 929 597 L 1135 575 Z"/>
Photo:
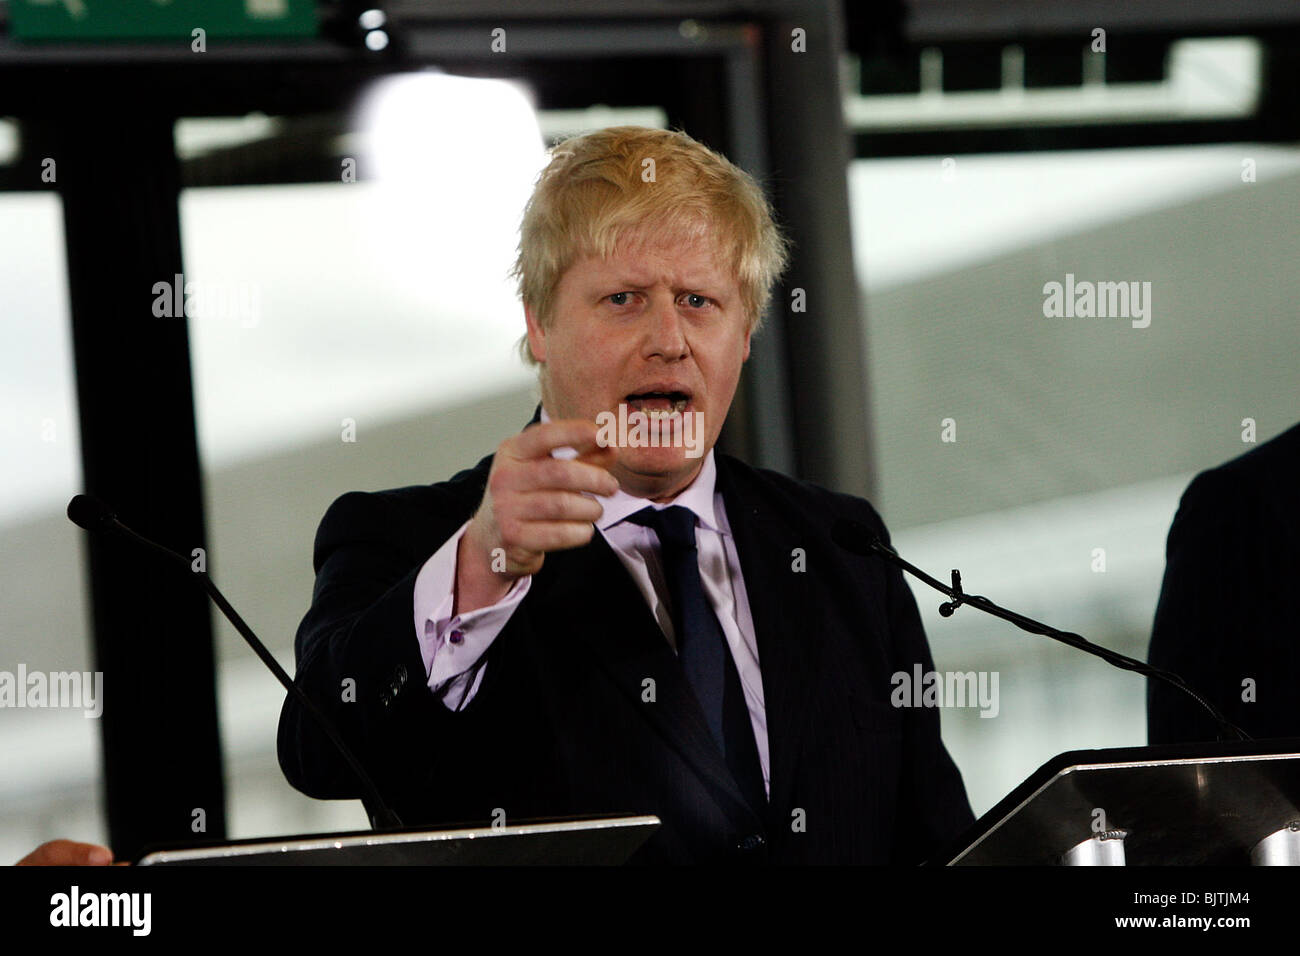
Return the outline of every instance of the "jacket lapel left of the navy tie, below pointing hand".
<path id="1" fill-rule="evenodd" d="M 681 662 L 604 537 L 597 532 L 585 548 L 547 554 L 534 579 L 538 584 L 541 619 L 567 622 L 566 635 L 581 640 L 655 731 L 715 793 L 725 795 L 733 816 L 751 814 L 708 732 Z M 575 614 L 576 607 L 585 610 Z M 642 697 L 646 678 L 654 680 L 654 702 Z"/>

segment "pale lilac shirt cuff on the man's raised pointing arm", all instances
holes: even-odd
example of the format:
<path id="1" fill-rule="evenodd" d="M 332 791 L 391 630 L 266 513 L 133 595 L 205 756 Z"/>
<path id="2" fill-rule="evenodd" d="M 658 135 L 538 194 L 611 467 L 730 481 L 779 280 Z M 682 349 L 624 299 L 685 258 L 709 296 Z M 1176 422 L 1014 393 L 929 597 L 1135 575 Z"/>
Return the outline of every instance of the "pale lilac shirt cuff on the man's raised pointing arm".
<path id="1" fill-rule="evenodd" d="M 420 641 L 420 656 L 429 689 L 434 693 L 450 691 L 450 683 L 478 663 L 497 635 L 502 632 L 510 615 L 528 594 L 532 575 L 515 580 L 506 596 L 494 605 L 478 607 L 452 617 L 456 588 L 456 553 L 469 522 L 430 557 L 415 579 L 415 633 Z M 477 691 L 480 675 L 472 688 Z M 468 684 L 468 680 L 456 682 Z M 464 701 L 462 701 L 464 702 Z"/>

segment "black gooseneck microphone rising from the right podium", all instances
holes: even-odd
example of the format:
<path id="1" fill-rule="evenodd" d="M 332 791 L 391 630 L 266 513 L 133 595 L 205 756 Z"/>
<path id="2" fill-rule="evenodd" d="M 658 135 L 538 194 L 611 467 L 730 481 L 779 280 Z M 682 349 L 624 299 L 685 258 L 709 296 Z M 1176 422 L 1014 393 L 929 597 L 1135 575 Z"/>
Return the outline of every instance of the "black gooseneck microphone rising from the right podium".
<path id="1" fill-rule="evenodd" d="M 1238 727 L 1235 723 L 1228 721 L 1218 709 L 1210 704 L 1208 700 L 1196 693 L 1187 682 L 1173 671 L 1161 670 L 1158 667 L 1152 667 L 1145 661 L 1138 661 L 1126 654 L 1121 654 L 1109 648 L 1102 648 L 1093 644 L 1087 637 L 1074 633 L 1071 631 L 1058 631 L 1050 624 L 1044 624 L 1034 618 L 1027 618 L 1023 614 L 1017 614 L 1005 607 L 989 601 L 987 597 L 980 594 L 967 594 L 962 591 L 962 574 L 961 571 L 953 568 L 953 583 L 952 587 L 935 580 L 928 574 L 920 568 L 904 561 L 898 551 L 892 546 L 887 545 L 880 536 L 862 524 L 861 522 L 854 522 L 849 518 L 842 518 L 836 522 L 835 527 L 831 528 L 831 540 L 835 541 L 840 548 L 849 551 L 850 554 L 861 554 L 863 557 L 876 555 L 890 564 L 901 567 L 907 574 L 924 581 L 930 587 L 935 588 L 942 594 L 949 597 L 948 601 L 939 606 L 939 613 L 945 618 L 950 618 L 953 613 L 961 607 L 963 604 L 971 607 L 978 607 L 985 614 L 992 614 L 994 618 L 1001 618 L 1002 620 L 1009 620 L 1015 624 L 1022 631 L 1028 631 L 1030 633 L 1037 633 L 1044 637 L 1050 637 L 1054 641 L 1061 641 L 1062 644 L 1069 644 L 1071 648 L 1078 648 L 1084 653 L 1100 657 L 1102 661 L 1119 667 L 1121 670 L 1135 671 L 1148 678 L 1156 678 L 1157 680 L 1164 680 L 1171 687 L 1176 687 L 1183 693 L 1188 695 L 1193 701 L 1196 701 L 1201 708 L 1204 708 L 1210 717 L 1214 718 L 1216 723 L 1219 726 L 1219 737 L 1225 739 L 1225 731 L 1234 734 L 1238 740 L 1251 740 L 1251 735 L 1244 730 Z"/>

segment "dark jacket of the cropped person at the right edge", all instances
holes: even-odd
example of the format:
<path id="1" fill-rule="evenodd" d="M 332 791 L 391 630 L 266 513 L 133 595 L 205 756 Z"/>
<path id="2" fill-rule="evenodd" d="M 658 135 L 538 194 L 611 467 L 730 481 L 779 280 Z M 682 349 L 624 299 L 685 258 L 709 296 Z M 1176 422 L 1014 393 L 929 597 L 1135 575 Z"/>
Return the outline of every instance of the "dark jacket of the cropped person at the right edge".
<path id="1" fill-rule="evenodd" d="M 1254 737 L 1300 736 L 1300 425 L 1196 476 L 1169 531 L 1148 659 Z M 1254 680 L 1254 701 L 1243 684 Z M 1148 682 L 1153 744 L 1214 740 L 1190 697 Z"/>

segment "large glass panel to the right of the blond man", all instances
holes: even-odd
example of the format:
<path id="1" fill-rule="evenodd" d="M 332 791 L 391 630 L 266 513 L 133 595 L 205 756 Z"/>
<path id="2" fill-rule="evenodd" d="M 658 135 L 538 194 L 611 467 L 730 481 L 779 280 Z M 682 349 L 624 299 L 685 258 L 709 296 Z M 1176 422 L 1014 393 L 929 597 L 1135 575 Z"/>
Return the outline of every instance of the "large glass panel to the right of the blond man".
<path id="1" fill-rule="evenodd" d="M 900 553 L 1145 659 L 1187 483 L 1254 447 L 1244 419 L 1296 420 L 1300 151 L 858 161 L 850 191 Z M 1140 303 L 1048 316 L 1052 282 Z M 1056 753 L 1145 744 L 1144 679 L 914 589 L 936 667 L 1000 675 L 1001 719 L 942 713 L 976 812 Z"/>

